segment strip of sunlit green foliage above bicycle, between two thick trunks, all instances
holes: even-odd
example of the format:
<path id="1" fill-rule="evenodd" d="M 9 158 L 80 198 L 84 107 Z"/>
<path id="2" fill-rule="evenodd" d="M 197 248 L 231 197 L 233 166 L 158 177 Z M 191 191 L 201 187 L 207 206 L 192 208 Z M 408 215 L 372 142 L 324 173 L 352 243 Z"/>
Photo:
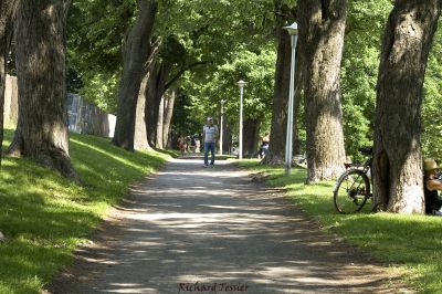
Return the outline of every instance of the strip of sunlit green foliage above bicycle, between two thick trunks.
<path id="1" fill-rule="evenodd" d="M 392 6 L 389 0 L 350 1 L 341 67 L 346 151 L 372 145 L 380 38 Z"/>

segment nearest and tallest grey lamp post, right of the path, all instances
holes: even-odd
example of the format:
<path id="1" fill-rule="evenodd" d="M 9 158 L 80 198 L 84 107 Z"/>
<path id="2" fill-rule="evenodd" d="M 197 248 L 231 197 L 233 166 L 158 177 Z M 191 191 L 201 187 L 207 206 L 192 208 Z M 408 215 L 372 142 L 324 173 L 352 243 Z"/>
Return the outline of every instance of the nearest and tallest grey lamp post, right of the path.
<path id="1" fill-rule="evenodd" d="M 288 91 L 288 112 L 287 112 L 287 136 L 285 140 L 285 175 L 292 172 L 292 149 L 293 149 L 293 99 L 295 94 L 295 57 L 297 42 L 297 23 L 294 22 L 290 27 L 284 27 L 291 35 L 292 44 L 292 65 L 291 65 L 291 82 Z"/>

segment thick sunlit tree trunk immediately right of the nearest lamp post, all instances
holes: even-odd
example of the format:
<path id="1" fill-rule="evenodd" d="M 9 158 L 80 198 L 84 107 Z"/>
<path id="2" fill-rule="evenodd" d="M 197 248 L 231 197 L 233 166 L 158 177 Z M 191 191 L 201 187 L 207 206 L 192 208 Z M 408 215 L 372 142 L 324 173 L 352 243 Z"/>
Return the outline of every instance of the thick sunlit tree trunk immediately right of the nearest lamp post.
<path id="1" fill-rule="evenodd" d="M 347 0 L 301 0 L 299 46 L 304 55 L 307 182 L 336 178 L 345 157 L 339 70 Z"/>

